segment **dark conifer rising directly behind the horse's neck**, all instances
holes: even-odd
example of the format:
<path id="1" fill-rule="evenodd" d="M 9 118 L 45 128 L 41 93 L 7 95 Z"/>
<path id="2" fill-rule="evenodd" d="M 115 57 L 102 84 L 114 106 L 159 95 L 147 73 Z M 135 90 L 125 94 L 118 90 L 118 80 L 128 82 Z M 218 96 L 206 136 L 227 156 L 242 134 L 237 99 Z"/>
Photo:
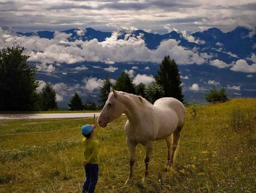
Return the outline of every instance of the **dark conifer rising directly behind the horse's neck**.
<path id="1" fill-rule="evenodd" d="M 132 83 L 132 78 L 125 71 L 123 71 L 121 76 L 117 78 L 115 89 L 117 91 L 135 94 L 135 86 L 134 83 Z"/>

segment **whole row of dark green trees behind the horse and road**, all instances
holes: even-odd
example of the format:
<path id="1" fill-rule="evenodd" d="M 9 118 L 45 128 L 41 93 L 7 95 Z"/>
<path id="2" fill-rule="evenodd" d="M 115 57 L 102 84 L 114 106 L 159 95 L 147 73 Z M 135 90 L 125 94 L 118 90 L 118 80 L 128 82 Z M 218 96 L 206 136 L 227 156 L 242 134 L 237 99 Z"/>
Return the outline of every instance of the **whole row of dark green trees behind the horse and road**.
<path id="1" fill-rule="evenodd" d="M 36 80 L 37 68 L 28 65 L 29 56 L 23 55 L 24 47 L 14 44 L 12 47 L 4 47 L 0 51 L 0 111 L 47 111 L 57 110 L 56 92 L 50 83 L 37 92 L 40 83 Z M 135 85 L 132 77 L 125 71 L 121 73 L 115 83 L 112 83 L 110 77 L 106 77 L 100 87 L 99 109 L 101 109 L 107 100 L 110 92 L 110 86 L 117 91 L 124 91 L 135 95 L 140 95 L 151 103 L 154 103 L 161 97 L 174 97 L 184 103 L 180 72 L 176 62 L 165 56 L 157 70 L 155 81 L 151 85 L 139 83 Z M 220 93 L 216 88 L 206 95 L 206 100 L 214 97 L 223 98 L 225 88 L 221 88 Z M 78 93 L 75 93 L 68 103 L 69 110 L 96 110 L 96 103 L 89 96 L 83 103 Z"/>

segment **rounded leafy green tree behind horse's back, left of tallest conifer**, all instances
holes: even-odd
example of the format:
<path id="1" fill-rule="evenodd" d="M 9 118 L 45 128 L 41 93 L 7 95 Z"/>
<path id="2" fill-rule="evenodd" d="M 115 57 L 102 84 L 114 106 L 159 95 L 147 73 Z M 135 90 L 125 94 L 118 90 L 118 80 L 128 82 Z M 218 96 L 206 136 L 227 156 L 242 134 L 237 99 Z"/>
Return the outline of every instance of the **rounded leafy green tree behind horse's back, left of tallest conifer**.
<path id="1" fill-rule="evenodd" d="M 157 85 L 156 82 L 152 82 L 152 85 L 148 85 L 145 88 L 145 98 L 147 101 L 154 103 L 157 99 L 164 96 L 163 86 Z"/>

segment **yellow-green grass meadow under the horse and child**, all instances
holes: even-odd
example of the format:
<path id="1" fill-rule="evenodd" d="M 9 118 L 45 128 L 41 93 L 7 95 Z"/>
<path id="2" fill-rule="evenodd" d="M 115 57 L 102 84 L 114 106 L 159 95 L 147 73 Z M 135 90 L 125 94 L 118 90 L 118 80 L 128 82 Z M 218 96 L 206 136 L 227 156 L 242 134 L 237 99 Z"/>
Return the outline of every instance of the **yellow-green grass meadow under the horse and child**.
<path id="1" fill-rule="evenodd" d="M 122 116 L 96 128 L 96 192 L 256 191 L 256 100 L 188 107 L 175 164 L 166 171 L 165 141 L 155 141 L 149 178 L 142 182 L 145 149 L 138 145 L 134 182 L 127 186 L 125 121 Z M 92 118 L 0 120 L 0 192 L 80 192 L 85 177 L 80 127 L 86 123 Z"/>

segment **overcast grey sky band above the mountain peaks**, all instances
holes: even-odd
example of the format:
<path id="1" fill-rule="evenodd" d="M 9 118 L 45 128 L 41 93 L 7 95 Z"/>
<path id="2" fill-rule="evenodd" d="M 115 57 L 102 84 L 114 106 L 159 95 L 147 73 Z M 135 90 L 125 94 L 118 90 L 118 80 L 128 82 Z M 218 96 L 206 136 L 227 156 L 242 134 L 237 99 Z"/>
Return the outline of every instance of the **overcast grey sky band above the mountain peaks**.
<path id="1" fill-rule="evenodd" d="M 0 26 L 19 32 L 87 28 L 168 33 L 256 26 L 255 0 L 0 0 Z"/>

